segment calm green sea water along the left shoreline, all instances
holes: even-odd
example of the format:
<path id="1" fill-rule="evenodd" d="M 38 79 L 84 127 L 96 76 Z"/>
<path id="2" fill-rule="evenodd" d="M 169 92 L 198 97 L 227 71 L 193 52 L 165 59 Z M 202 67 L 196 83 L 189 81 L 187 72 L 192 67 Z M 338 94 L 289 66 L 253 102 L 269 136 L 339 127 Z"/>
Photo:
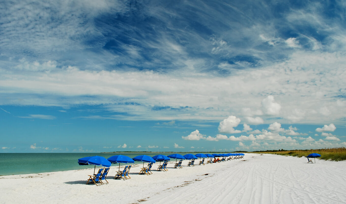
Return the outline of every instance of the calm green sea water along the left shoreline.
<path id="1" fill-rule="evenodd" d="M 0 153 L 0 176 L 94 168 L 94 165 L 79 165 L 77 160 L 85 156 L 98 155 L 109 158 L 119 154 L 134 158 L 142 154 L 155 156 L 157 154 L 169 155 L 173 153 Z M 118 165 L 112 164 L 114 167 Z"/>

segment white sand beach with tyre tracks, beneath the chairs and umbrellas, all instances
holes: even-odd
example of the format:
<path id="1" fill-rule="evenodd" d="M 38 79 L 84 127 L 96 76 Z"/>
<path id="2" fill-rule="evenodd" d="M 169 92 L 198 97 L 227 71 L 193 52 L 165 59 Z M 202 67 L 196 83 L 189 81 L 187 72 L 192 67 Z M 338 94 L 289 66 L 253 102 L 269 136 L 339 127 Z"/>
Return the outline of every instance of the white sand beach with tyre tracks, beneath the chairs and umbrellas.
<path id="1" fill-rule="evenodd" d="M 157 162 L 158 163 L 158 162 Z M 156 171 L 109 184 L 85 185 L 93 169 L 0 177 L 0 203 L 346 203 L 346 161 L 316 160 L 272 154 L 245 154 L 243 159 Z M 145 164 L 146 165 L 146 164 Z"/>

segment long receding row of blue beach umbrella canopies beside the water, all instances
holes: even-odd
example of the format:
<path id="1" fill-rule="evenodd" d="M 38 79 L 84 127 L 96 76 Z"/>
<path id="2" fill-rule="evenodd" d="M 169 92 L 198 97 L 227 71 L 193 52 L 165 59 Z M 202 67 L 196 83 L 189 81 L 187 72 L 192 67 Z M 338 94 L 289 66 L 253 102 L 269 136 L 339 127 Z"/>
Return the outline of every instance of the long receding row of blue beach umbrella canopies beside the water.
<path id="1" fill-rule="evenodd" d="M 79 165 L 95 165 L 96 166 L 103 166 L 103 167 L 110 167 L 111 164 L 119 163 L 119 170 L 120 170 L 120 163 L 135 163 L 135 161 L 140 161 L 143 162 L 143 167 L 144 167 L 144 162 L 148 163 L 155 163 L 156 161 L 167 161 L 170 160 L 170 158 L 173 159 L 197 159 L 197 158 L 214 158 L 214 157 L 220 157 L 220 156 L 238 156 L 238 155 L 244 155 L 243 153 L 228 153 L 228 154 L 171 154 L 168 156 L 158 154 L 153 157 L 147 156 L 147 155 L 139 155 L 135 156 L 134 158 L 129 158 L 128 156 L 125 155 L 114 155 L 111 156 L 110 158 L 106 159 L 103 156 L 87 156 L 83 157 L 81 159 L 78 159 Z M 95 173 L 95 168 L 94 168 L 94 173 Z"/>

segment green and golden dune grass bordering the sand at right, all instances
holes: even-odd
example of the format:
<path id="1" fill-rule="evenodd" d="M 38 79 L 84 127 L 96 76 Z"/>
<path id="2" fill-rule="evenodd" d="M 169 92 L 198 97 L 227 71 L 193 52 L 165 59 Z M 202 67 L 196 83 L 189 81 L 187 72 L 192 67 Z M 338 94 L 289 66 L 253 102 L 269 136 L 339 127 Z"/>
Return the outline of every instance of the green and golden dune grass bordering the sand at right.
<path id="1" fill-rule="evenodd" d="M 346 160 L 346 148 L 345 147 L 335 147 L 335 148 L 324 148 L 316 150 L 284 150 L 277 152 L 261 152 L 268 154 L 279 154 L 279 155 L 290 155 L 290 156 L 308 156 L 311 153 L 320 154 L 319 159 L 331 160 L 331 161 L 343 161 Z"/>

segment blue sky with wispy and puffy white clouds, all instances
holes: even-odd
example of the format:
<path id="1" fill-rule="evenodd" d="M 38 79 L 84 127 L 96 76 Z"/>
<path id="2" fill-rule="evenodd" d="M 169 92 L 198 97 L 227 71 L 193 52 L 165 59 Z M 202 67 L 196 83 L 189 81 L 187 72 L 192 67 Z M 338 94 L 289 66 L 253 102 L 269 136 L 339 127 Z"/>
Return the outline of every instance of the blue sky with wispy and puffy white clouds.
<path id="1" fill-rule="evenodd" d="M 0 153 L 346 146 L 345 1 L 0 5 Z"/>

